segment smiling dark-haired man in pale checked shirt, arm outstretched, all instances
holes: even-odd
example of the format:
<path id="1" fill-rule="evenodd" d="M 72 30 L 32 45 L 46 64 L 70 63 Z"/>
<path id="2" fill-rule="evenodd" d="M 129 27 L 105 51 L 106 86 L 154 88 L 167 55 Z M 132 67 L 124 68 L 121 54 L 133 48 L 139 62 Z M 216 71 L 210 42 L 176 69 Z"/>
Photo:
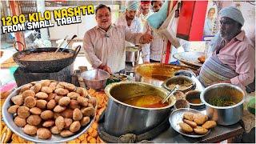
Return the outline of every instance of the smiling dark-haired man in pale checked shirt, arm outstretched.
<path id="1" fill-rule="evenodd" d="M 98 26 L 88 30 L 84 36 L 83 46 L 86 57 L 94 68 L 109 73 L 123 73 L 125 69 L 125 41 L 149 43 L 150 34 L 132 33 L 126 26 L 115 26 L 111 23 L 110 7 L 99 5 L 96 10 Z"/>

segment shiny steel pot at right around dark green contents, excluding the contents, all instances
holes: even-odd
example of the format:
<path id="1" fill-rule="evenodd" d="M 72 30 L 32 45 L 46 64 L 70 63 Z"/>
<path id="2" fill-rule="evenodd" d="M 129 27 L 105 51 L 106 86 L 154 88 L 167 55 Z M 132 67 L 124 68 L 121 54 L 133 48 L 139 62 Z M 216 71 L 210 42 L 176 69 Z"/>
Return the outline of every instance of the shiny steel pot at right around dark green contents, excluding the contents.
<path id="1" fill-rule="evenodd" d="M 220 98 L 228 96 L 233 106 L 212 106 L 209 103 L 210 98 Z M 200 98 L 206 105 L 206 114 L 216 121 L 219 125 L 228 126 L 237 123 L 242 119 L 243 102 L 245 101 L 245 93 L 243 90 L 232 84 L 219 83 L 207 87 L 201 94 Z"/>

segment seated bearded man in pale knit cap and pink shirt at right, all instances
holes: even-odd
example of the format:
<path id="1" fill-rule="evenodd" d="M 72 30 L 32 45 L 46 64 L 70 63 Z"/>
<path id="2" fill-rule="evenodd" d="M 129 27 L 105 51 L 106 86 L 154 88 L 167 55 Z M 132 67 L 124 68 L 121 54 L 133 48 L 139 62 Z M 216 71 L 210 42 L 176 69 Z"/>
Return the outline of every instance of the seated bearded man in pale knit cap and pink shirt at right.
<path id="1" fill-rule="evenodd" d="M 204 86 L 231 83 L 246 90 L 254 81 L 254 45 L 241 30 L 244 18 L 234 6 L 219 12 L 220 30 L 214 41 L 214 53 L 202 65 L 198 79 Z"/>

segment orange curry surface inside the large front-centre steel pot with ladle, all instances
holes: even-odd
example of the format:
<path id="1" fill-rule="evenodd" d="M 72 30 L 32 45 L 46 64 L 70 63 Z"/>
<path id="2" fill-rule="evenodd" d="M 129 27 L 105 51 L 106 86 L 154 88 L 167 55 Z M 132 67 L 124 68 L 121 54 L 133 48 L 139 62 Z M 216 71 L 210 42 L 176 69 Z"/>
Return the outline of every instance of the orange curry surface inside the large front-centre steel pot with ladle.
<path id="1" fill-rule="evenodd" d="M 159 108 L 168 106 L 169 103 L 165 102 L 162 104 L 162 97 L 154 95 L 142 95 L 134 98 L 129 98 L 124 101 L 128 105 L 145 107 L 145 108 Z"/>

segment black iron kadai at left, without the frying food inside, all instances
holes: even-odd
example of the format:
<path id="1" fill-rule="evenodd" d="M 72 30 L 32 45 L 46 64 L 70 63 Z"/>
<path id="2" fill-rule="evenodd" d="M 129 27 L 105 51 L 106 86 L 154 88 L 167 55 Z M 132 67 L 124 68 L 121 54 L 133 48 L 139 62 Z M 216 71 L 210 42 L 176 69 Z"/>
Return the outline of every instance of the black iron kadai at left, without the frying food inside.
<path id="1" fill-rule="evenodd" d="M 30 72 L 35 72 L 35 73 L 58 72 L 59 70 L 62 70 L 66 66 L 70 66 L 70 64 L 74 62 L 74 59 L 77 57 L 80 49 L 81 49 L 81 46 L 78 46 L 75 50 L 70 50 L 70 49 L 63 50 L 63 48 L 60 48 L 59 51 L 63 50 L 63 53 L 71 53 L 73 54 L 73 56 L 69 58 L 56 59 L 52 61 L 22 61 L 20 60 L 20 58 L 26 54 L 31 54 L 31 53 L 54 52 L 55 50 L 57 50 L 57 47 L 44 47 L 44 48 L 18 51 L 13 55 L 13 58 L 14 58 L 14 62 L 16 62 L 18 66 L 21 66 L 23 69 Z"/>

